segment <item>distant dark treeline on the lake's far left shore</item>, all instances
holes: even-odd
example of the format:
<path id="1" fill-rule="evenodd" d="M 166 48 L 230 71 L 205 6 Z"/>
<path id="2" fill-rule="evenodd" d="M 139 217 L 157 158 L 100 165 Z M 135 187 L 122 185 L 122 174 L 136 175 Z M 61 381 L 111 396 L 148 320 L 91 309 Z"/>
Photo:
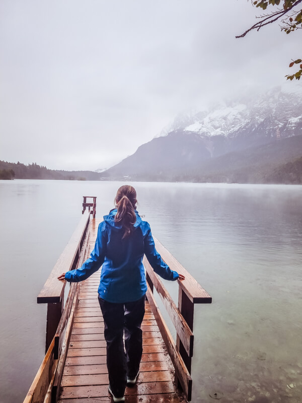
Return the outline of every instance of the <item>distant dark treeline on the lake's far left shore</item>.
<path id="1" fill-rule="evenodd" d="M 92 171 L 57 171 L 44 166 L 0 161 L 0 172 L 13 171 L 16 179 L 63 179 L 63 180 L 100 180 L 101 175 Z M 5 174 L 7 175 L 7 173 Z M 1 179 L 12 179 L 4 178 Z"/>

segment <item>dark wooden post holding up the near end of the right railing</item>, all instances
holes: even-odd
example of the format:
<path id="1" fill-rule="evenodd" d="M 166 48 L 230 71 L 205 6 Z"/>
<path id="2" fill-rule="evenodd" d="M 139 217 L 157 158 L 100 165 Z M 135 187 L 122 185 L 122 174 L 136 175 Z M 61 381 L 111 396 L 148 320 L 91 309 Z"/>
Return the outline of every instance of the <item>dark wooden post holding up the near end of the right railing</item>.
<path id="1" fill-rule="evenodd" d="M 179 287 L 178 290 L 178 309 L 180 313 L 183 315 L 184 319 L 186 320 L 188 326 L 190 329 L 193 331 L 193 321 L 194 321 L 194 302 L 192 302 L 187 294 L 184 292 L 184 290 Z M 176 347 L 184 360 L 184 363 L 191 374 L 191 364 L 192 364 L 192 358 L 188 356 L 178 334 L 176 335 Z M 192 352 L 193 355 L 193 352 Z M 181 387 L 179 381 L 178 381 L 178 386 Z M 191 400 L 191 396 L 188 396 L 188 400 Z"/>

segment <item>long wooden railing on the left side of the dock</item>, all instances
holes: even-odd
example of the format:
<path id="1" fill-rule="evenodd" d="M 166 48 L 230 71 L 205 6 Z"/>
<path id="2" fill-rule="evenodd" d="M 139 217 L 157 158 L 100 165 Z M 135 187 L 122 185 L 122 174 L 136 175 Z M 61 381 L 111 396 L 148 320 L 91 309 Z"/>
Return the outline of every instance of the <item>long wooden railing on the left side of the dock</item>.
<path id="1" fill-rule="evenodd" d="M 84 196 L 84 200 L 86 197 Z M 72 283 L 63 309 L 66 282 L 58 281 L 57 277 L 81 266 L 85 260 L 90 216 L 96 207 L 95 199 L 94 209 L 92 212 L 90 209 L 83 212 L 79 225 L 37 297 L 38 304 L 47 303 L 46 355 L 24 403 L 54 403 L 57 401 L 79 294 L 78 283 Z"/>

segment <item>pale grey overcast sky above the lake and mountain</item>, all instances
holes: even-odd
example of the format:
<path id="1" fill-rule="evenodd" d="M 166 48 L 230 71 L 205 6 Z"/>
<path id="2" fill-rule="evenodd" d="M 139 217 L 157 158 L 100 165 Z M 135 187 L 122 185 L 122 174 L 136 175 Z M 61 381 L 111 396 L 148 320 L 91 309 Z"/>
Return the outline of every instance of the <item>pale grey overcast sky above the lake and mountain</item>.
<path id="1" fill-rule="evenodd" d="M 255 22 L 247 0 L 1 0 L 0 159 L 109 167 L 182 111 L 299 82 L 299 31 Z"/>

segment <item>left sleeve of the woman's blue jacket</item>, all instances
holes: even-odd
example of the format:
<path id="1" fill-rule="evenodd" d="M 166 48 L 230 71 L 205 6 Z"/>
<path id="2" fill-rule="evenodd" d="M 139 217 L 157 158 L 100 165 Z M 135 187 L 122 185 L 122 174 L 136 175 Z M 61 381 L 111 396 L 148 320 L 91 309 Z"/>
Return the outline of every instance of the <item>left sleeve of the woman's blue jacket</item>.
<path id="1" fill-rule="evenodd" d="M 106 238 L 105 222 L 103 221 L 99 225 L 95 247 L 91 252 L 90 257 L 82 264 L 82 267 L 67 272 L 65 274 L 65 280 L 70 283 L 77 283 L 88 279 L 89 276 L 99 270 L 105 260 Z"/>

